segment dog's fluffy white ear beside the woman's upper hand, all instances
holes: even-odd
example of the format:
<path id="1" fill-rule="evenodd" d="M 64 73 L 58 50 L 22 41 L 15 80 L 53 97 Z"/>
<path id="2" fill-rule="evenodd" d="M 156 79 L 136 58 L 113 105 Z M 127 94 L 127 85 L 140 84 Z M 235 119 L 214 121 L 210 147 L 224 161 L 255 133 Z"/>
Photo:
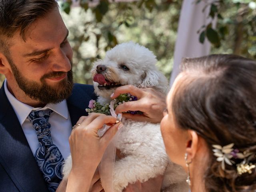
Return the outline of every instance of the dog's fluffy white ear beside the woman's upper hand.
<path id="1" fill-rule="evenodd" d="M 168 92 L 169 86 L 168 81 L 164 74 L 162 74 L 157 69 L 148 69 L 145 71 L 144 80 L 140 84 L 139 88 L 155 88 L 162 93 Z"/>

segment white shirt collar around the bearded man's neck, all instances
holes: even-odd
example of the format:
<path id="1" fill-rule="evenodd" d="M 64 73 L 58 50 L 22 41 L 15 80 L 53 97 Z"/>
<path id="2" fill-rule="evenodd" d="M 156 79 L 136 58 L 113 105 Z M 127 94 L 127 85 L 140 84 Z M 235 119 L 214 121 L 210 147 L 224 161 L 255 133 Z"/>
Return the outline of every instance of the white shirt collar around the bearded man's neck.
<path id="1" fill-rule="evenodd" d="M 58 104 L 46 104 L 45 107 L 40 108 L 34 108 L 32 106 L 29 106 L 25 103 L 20 102 L 18 99 L 16 99 L 8 90 L 7 88 L 7 80 L 4 80 L 4 91 L 6 93 L 6 96 L 12 105 L 12 108 L 14 109 L 14 112 L 16 113 L 18 120 L 20 124 L 22 125 L 24 121 L 26 120 L 27 116 L 30 114 L 32 110 L 44 110 L 46 108 L 49 108 L 53 110 L 54 112 L 58 113 L 60 116 L 64 117 L 65 119 L 68 119 L 68 106 L 66 99 Z"/>

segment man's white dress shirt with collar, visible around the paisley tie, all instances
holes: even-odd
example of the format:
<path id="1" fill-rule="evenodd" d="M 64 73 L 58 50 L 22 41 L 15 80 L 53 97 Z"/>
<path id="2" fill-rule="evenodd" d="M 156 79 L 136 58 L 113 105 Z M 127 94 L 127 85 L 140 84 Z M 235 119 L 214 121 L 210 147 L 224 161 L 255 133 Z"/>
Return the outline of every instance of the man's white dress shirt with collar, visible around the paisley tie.
<path id="1" fill-rule="evenodd" d="M 31 122 L 27 119 L 27 116 L 31 111 L 45 110 L 47 108 L 53 110 L 49 118 L 49 123 L 51 124 L 50 132 L 52 135 L 52 142 L 58 147 L 63 158 L 66 159 L 70 154 L 68 138 L 72 131 L 72 124 L 66 100 L 63 100 L 58 104 L 47 104 L 43 108 L 34 108 L 20 102 L 9 92 L 7 88 L 7 80 L 4 81 L 4 91 L 16 113 L 16 116 L 18 117 L 33 154 L 35 154 L 37 148 L 39 147 L 39 142 L 37 139 L 36 130 L 33 128 Z"/>

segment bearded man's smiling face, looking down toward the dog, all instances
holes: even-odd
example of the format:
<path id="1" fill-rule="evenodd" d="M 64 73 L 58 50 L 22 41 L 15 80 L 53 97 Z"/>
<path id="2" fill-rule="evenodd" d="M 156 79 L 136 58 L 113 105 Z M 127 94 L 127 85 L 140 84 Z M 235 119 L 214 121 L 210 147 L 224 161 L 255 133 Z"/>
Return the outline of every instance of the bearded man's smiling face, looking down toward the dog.
<path id="1" fill-rule="evenodd" d="M 30 98 L 46 104 L 70 96 L 72 49 L 67 36 L 68 30 L 56 9 L 30 26 L 26 42 L 19 32 L 11 39 L 6 58 L 18 87 Z"/>

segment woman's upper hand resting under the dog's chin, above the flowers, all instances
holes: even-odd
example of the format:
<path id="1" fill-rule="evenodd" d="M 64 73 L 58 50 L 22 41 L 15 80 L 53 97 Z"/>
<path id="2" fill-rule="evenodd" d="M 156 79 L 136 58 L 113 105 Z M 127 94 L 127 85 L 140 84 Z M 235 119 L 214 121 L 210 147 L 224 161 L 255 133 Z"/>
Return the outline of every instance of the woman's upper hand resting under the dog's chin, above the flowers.
<path id="1" fill-rule="evenodd" d="M 152 88 L 137 88 L 133 85 L 125 85 L 116 88 L 111 98 L 114 99 L 120 94 L 130 93 L 138 98 L 137 101 L 125 102 L 116 107 L 116 114 L 131 111 L 141 111 L 140 114 L 124 113 L 123 116 L 135 121 L 147 121 L 159 123 L 163 118 L 163 111 L 166 108 L 166 96 Z"/>

